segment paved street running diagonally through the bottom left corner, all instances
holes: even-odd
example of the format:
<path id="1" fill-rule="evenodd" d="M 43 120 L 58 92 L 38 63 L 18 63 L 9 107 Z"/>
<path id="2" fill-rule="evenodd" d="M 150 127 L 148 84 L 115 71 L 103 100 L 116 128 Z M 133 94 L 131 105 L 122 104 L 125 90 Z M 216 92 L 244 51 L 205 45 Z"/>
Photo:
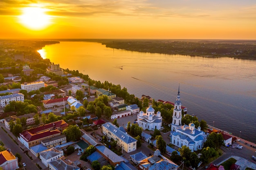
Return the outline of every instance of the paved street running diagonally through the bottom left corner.
<path id="1" fill-rule="evenodd" d="M 39 159 L 37 158 L 37 159 L 31 160 L 20 149 L 20 147 L 23 148 L 23 146 L 15 144 L 14 141 L 8 136 L 8 134 L 6 132 L 4 132 L 4 130 L 1 127 L 3 127 L 7 132 L 8 132 L 8 130 L 4 126 L 2 126 L 2 124 L 0 125 L 0 140 L 4 143 L 4 147 L 10 148 L 13 155 L 15 155 L 16 153 L 19 153 L 20 156 L 22 157 L 21 162 L 26 163 L 27 170 L 38 170 L 39 168 L 36 166 L 35 163 L 38 163 Z M 9 133 L 11 133 L 11 132 L 9 132 Z M 10 135 L 12 135 L 12 134 L 10 134 Z M 13 139 L 18 142 L 18 139 L 16 137 L 13 137 Z M 26 148 L 26 150 L 27 150 L 27 148 Z M 29 151 L 29 155 L 32 156 L 30 151 Z M 46 168 L 45 166 L 42 166 L 42 163 L 40 163 L 40 166 L 41 166 L 41 168 Z"/>

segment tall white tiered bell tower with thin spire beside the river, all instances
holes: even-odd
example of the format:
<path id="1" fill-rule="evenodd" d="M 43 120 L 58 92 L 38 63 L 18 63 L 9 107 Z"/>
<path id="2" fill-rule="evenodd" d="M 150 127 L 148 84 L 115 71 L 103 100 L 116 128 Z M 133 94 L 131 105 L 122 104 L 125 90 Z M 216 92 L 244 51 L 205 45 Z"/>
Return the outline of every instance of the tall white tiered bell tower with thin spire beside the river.
<path id="1" fill-rule="evenodd" d="M 181 102 L 180 102 L 180 84 L 179 84 L 178 94 L 176 97 L 176 101 L 174 103 L 173 122 L 171 124 L 171 130 L 176 131 L 176 128 L 181 126 L 181 119 L 182 119 L 182 108 L 181 108 Z"/>

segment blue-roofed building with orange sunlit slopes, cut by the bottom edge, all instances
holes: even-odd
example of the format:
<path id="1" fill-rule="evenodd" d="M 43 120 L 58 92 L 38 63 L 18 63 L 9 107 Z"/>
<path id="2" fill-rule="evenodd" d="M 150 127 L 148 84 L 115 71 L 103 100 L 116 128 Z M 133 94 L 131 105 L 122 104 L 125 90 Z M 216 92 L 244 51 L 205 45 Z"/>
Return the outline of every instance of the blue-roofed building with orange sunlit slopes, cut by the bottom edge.
<path id="1" fill-rule="evenodd" d="M 139 170 L 177 170 L 179 166 L 155 150 L 154 155 L 138 162 Z"/>

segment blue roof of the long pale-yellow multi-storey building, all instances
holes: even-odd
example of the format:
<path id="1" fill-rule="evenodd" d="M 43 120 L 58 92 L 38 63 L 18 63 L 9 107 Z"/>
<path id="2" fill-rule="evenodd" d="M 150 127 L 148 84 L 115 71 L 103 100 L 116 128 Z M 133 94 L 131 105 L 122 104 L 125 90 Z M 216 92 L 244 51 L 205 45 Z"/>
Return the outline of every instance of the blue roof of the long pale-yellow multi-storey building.
<path id="1" fill-rule="evenodd" d="M 117 128 L 110 122 L 107 122 L 106 124 L 103 124 L 102 126 L 104 126 L 106 129 L 108 129 L 110 132 L 114 133 L 119 139 L 124 141 L 126 144 L 130 144 L 130 143 L 137 141 L 130 135 L 126 134 L 122 128 Z"/>

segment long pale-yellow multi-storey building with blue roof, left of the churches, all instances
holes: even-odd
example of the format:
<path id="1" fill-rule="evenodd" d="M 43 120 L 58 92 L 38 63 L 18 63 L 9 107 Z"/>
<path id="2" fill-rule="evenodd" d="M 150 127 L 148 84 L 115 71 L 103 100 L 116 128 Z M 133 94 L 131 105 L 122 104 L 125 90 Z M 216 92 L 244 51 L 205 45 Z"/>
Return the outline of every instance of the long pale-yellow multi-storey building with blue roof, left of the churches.
<path id="1" fill-rule="evenodd" d="M 137 146 L 137 140 L 126 134 L 123 127 L 117 128 L 117 126 L 108 122 L 102 125 L 102 132 L 108 139 L 114 139 L 117 141 L 117 145 L 120 146 L 127 153 L 135 151 Z"/>

